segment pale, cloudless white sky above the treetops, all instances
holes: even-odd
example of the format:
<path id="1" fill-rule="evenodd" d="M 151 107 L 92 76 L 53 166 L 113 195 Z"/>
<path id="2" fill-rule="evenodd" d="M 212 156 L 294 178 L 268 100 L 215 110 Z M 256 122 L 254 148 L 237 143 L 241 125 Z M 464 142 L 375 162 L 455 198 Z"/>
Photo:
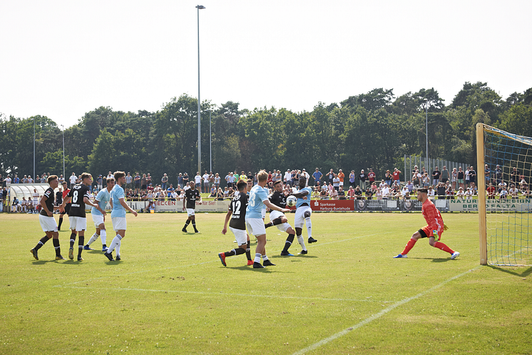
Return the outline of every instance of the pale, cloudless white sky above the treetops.
<path id="1" fill-rule="evenodd" d="M 0 3 L 0 113 L 72 126 L 173 96 L 312 111 L 382 87 L 532 87 L 532 1 L 20 0 Z"/>

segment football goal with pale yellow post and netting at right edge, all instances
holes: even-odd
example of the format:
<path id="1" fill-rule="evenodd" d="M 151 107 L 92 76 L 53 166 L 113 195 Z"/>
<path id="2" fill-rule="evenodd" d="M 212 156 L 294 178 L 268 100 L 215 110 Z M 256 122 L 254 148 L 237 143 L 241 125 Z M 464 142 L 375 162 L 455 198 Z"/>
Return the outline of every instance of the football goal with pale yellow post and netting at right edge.
<path id="1" fill-rule="evenodd" d="M 476 134 L 481 264 L 532 265 L 532 138 L 485 124 Z"/>

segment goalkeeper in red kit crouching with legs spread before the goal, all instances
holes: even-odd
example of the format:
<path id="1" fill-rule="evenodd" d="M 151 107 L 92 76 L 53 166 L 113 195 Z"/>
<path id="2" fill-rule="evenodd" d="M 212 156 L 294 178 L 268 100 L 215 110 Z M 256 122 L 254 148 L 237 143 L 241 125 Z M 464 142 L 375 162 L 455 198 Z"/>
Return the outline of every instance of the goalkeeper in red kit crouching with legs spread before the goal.
<path id="1" fill-rule="evenodd" d="M 414 248 L 416 241 L 421 238 L 429 238 L 429 244 L 431 246 L 448 252 L 451 254 L 451 259 L 456 259 L 456 257 L 460 255 L 458 251 L 453 251 L 449 246 L 446 246 L 439 241 L 441 239 L 441 234 L 447 229 L 447 226 L 444 224 L 444 220 L 441 218 L 441 214 L 438 209 L 436 209 L 436 206 L 434 206 L 432 201 L 426 196 L 427 192 L 427 189 L 419 189 L 417 191 L 417 200 L 423 203 L 421 213 L 428 226 L 424 226 L 419 229 L 419 231 L 412 234 L 410 240 L 404 247 L 404 251 L 401 254 L 394 256 L 394 258 L 406 258 L 406 254 L 408 254 L 410 249 Z"/>

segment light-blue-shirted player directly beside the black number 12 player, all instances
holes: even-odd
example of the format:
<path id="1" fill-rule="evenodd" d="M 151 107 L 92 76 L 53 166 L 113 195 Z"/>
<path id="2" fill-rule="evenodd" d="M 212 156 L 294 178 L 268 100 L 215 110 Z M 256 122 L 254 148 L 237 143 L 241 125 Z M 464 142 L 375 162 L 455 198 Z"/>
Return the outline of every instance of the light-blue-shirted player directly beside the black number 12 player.
<path id="1" fill-rule="evenodd" d="M 253 260 L 253 268 L 255 269 L 263 268 L 264 266 L 275 266 L 266 256 L 266 229 L 262 220 L 262 207 L 266 205 L 269 209 L 274 209 L 275 211 L 290 211 L 289 209 L 282 209 L 275 206 L 268 199 L 267 190 L 264 188 L 267 183 L 268 173 L 261 170 L 257 174 L 257 178 L 258 184 L 250 190 L 250 199 L 247 202 L 246 208 L 247 230 L 257 238 L 257 249 L 255 249 L 255 259 Z M 261 256 L 263 261 L 262 265 L 260 264 Z"/>

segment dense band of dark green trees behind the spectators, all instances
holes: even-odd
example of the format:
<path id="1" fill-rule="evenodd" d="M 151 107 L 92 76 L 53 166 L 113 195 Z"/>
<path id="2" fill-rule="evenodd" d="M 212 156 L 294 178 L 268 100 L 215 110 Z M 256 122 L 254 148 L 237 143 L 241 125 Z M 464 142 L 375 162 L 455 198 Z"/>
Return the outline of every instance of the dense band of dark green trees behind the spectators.
<path id="1" fill-rule="evenodd" d="M 339 103 L 319 102 L 310 112 L 289 109 L 240 109 L 227 101 L 201 104 L 202 169 L 210 170 L 209 120 L 212 121 L 213 172 L 306 168 L 358 172 L 372 167 L 377 177 L 403 166 L 404 154 L 425 155 L 428 113 L 429 156 L 476 162 L 475 125 L 483 122 L 532 136 L 532 88 L 503 99 L 486 83 L 466 82 L 446 106 L 435 89 L 401 96 L 374 89 Z M 170 182 L 179 172 L 198 170 L 198 100 L 174 97 L 160 111 L 123 112 L 99 107 L 65 129 L 66 176 L 107 174 L 121 169 Z M 63 131 L 46 116 L 0 114 L 0 173 L 33 173 L 34 123 L 36 173 L 63 171 Z M 203 171 L 200 171 L 203 174 Z"/>

